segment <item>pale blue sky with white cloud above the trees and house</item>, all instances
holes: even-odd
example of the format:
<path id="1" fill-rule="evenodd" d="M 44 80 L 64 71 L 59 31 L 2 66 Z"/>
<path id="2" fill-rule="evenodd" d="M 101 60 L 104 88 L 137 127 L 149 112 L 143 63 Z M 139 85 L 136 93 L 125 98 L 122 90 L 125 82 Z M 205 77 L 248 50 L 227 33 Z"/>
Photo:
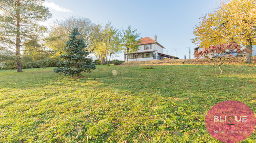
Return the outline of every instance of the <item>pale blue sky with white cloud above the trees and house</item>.
<path id="1" fill-rule="evenodd" d="M 217 5 L 217 0 L 45 0 L 52 18 L 43 25 L 49 25 L 55 19 L 70 16 L 86 17 L 94 23 L 105 25 L 108 21 L 117 29 L 138 29 L 141 37 L 157 35 L 165 54 L 186 59 L 194 58 L 195 45 L 193 29 L 200 22 L 200 17 Z M 124 54 L 115 59 L 124 60 Z"/>

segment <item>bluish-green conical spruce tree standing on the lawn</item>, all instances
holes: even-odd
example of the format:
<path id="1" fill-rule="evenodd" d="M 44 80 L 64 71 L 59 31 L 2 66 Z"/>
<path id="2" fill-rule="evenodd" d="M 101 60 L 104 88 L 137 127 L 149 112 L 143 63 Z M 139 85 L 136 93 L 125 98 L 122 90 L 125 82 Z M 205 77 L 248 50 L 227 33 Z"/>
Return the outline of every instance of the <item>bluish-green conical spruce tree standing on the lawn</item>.
<path id="1" fill-rule="evenodd" d="M 91 73 L 91 69 L 95 69 L 93 60 L 88 58 L 89 51 L 85 50 L 86 44 L 81 38 L 77 28 L 74 28 L 66 41 L 66 46 L 63 48 L 64 54 L 60 54 L 60 62 L 53 70 L 55 73 L 64 74 L 66 76 L 80 77 L 81 72 Z"/>

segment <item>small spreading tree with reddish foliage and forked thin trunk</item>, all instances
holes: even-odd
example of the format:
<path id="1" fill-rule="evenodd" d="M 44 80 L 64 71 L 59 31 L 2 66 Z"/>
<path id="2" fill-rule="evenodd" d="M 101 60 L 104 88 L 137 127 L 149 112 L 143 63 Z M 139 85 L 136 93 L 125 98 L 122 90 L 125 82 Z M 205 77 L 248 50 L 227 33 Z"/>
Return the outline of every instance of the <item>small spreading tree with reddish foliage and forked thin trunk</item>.
<path id="1" fill-rule="evenodd" d="M 234 56 L 231 53 L 236 52 L 237 55 Z M 242 48 L 239 46 L 238 43 L 225 43 L 225 44 L 219 44 L 219 45 L 213 45 L 208 48 L 204 48 L 203 50 L 199 50 L 196 52 L 195 58 L 207 58 L 210 59 L 214 65 L 215 72 L 217 73 L 217 69 L 215 67 L 215 64 L 218 65 L 219 70 L 221 70 L 221 75 L 223 74 L 223 70 L 221 68 L 221 65 L 225 63 L 225 60 L 240 57 L 241 55 L 244 55 L 245 53 L 250 53 L 252 51 L 246 51 L 245 48 Z M 216 60 L 217 59 L 217 60 Z"/>

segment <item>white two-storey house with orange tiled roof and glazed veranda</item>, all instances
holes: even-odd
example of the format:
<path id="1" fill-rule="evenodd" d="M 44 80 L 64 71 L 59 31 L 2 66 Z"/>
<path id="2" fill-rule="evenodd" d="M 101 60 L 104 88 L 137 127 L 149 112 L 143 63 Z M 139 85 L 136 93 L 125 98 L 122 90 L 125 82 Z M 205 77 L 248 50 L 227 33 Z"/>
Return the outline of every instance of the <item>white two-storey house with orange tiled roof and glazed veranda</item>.
<path id="1" fill-rule="evenodd" d="M 132 61 L 150 61 L 150 60 L 164 60 L 164 59 L 179 59 L 177 57 L 163 54 L 163 47 L 157 42 L 157 36 L 155 40 L 150 37 L 141 38 L 139 50 L 128 54 L 128 62 Z M 125 55 L 125 61 L 127 62 L 127 53 Z"/>

